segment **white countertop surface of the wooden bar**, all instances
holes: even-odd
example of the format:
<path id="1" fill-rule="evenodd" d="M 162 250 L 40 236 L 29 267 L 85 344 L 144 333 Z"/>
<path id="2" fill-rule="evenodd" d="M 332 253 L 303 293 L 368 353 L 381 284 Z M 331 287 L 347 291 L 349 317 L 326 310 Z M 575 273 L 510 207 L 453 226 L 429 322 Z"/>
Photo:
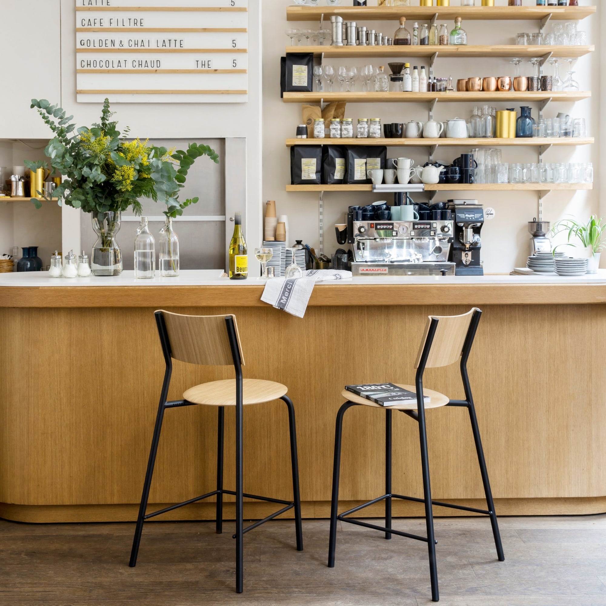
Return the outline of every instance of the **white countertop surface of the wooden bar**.
<path id="1" fill-rule="evenodd" d="M 230 280 L 222 278 L 223 270 L 182 270 L 177 278 L 135 279 L 133 271 L 123 271 L 119 276 L 89 278 L 51 278 L 47 271 L 0 273 L 0 287 L 45 286 L 256 286 L 265 281 L 260 278 Z M 324 285 L 345 284 L 606 284 L 606 270 L 598 273 L 564 278 L 563 276 L 375 276 L 351 278 L 343 281 L 319 282 Z"/>

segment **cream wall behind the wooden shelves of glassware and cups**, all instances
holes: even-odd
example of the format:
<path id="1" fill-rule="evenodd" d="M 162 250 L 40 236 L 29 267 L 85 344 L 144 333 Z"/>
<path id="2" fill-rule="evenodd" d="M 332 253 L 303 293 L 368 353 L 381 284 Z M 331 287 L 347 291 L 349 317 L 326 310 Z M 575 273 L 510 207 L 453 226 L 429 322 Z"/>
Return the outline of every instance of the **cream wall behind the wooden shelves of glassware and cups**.
<path id="1" fill-rule="evenodd" d="M 476 0 L 478 1 L 478 0 Z M 375 2 L 370 2 L 376 4 Z M 413 4 L 418 4 L 415 0 Z M 263 199 L 276 200 L 279 214 L 287 214 L 290 222 L 290 239 L 303 239 L 312 246 L 318 245 L 318 194 L 285 192 L 285 184 L 290 182 L 290 156 L 285 147 L 285 139 L 295 136 L 296 125 L 301 123 L 301 105 L 285 104 L 280 99 L 279 65 L 280 57 L 284 55 L 285 46 L 290 44 L 285 35 L 288 27 L 311 28 L 318 27 L 310 23 L 296 23 L 286 21 L 286 8 L 289 2 L 286 0 L 264 0 L 264 39 L 263 39 Z M 350 0 L 344 0 L 343 5 L 351 5 Z M 459 4 L 458 0 L 451 0 L 451 5 Z M 497 0 L 496 4 L 506 5 L 507 1 Z M 525 5 L 535 5 L 534 0 L 524 0 Z M 581 90 L 593 90 L 591 99 L 571 103 L 551 103 L 545 110 L 545 117 L 551 118 L 558 112 L 570 113 L 587 119 L 588 136 L 599 137 L 599 106 L 601 91 L 598 85 L 600 81 L 599 61 L 601 56 L 601 45 L 599 40 L 599 23 L 601 16 L 585 19 L 579 24 L 579 28 L 588 33 L 588 43 L 596 45 L 596 52 L 579 59 L 574 69 L 576 79 L 581 84 Z M 441 23 L 442 21 L 439 21 Z M 395 32 L 398 27 L 396 22 L 378 21 L 364 23 L 368 27 L 375 28 L 384 33 Z M 319 24 L 318 24 L 319 25 Z M 467 21 L 463 27 L 468 33 L 469 44 L 513 44 L 513 36 L 517 32 L 537 32 L 536 21 Z M 412 24 L 407 27 L 412 29 Z M 453 22 L 448 22 L 448 27 L 453 27 Z M 326 27 L 326 26 L 325 26 Z M 392 32 L 393 30 L 393 32 Z M 606 30 L 605 30 L 606 31 Z M 304 47 L 302 48 L 304 50 Z M 546 47 L 547 50 L 547 47 Z M 386 66 L 388 59 L 382 59 L 382 65 Z M 398 59 L 402 61 L 402 59 Z M 425 60 L 427 61 L 427 60 Z M 365 65 L 372 62 L 368 59 L 351 61 L 351 64 Z M 421 65 L 424 61 L 418 59 L 414 64 Z M 379 62 L 376 62 L 379 64 Z M 325 59 L 325 64 L 335 67 L 344 65 L 344 59 Z M 428 63 L 425 63 L 428 65 Z M 411 62 L 413 65 L 413 62 Z M 524 67 L 530 75 L 530 65 Z M 563 72 L 561 67 L 561 73 Z M 508 59 L 441 59 L 436 62 L 434 73 L 438 77 L 452 75 L 454 80 L 468 76 L 501 76 L 512 75 L 513 66 Z M 523 72 L 524 73 L 524 72 Z M 551 73 L 551 67 L 547 65 L 545 72 Z M 333 90 L 338 90 L 334 88 Z M 362 90 L 361 82 L 356 84 L 356 90 Z M 497 109 L 511 107 L 511 103 L 492 103 Z M 538 117 L 538 107 L 533 107 L 533 116 Z M 516 106 L 519 113 L 519 106 Z M 436 106 L 434 118 L 444 120 L 459 116 L 468 118 L 473 110 L 473 104 L 439 104 Z M 410 120 L 426 121 L 428 115 L 427 104 L 349 104 L 347 116 L 354 121 L 361 117 L 379 117 L 384 122 L 408 122 Z M 537 162 L 537 148 L 502 148 L 504 162 Z M 436 152 L 435 158 L 450 162 L 455 156 L 467 151 L 466 148 L 442 148 Z M 397 157 L 397 148 L 388 148 L 388 157 Z M 427 148 L 418 148 L 417 151 L 407 149 L 407 156 L 416 161 L 427 161 Z M 593 161 L 595 168 L 595 182 L 593 191 L 560 191 L 552 192 L 544 200 L 545 221 L 556 221 L 565 215 L 571 214 L 579 218 L 587 218 L 592 213 L 599 212 L 599 143 L 585 147 L 552 147 L 545 156 L 545 162 L 584 162 Z M 459 196 L 450 197 L 462 197 Z M 415 200 L 424 201 L 427 195 L 413 196 Z M 435 201 L 447 199 L 447 192 L 438 192 Z M 484 205 L 490 205 L 496 210 L 496 218 L 485 224 L 482 231 L 482 258 L 487 273 L 508 273 L 513 267 L 525 265 L 525 258 L 529 254 L 529 238 L 527 222 L 537 216 L 538 195 L 536 192 L 477 192 L 474 196 Z M 370 193 L 325 193 L 324 195 L 324 251 L 330 254 L 338 244 L 335 238 L 333 224 L 343 222 L 343 213 L 347 211 L 350 204 L 368 204 L 381 199 Z M 604 209 L 606 210 L 606 209 Z"/>

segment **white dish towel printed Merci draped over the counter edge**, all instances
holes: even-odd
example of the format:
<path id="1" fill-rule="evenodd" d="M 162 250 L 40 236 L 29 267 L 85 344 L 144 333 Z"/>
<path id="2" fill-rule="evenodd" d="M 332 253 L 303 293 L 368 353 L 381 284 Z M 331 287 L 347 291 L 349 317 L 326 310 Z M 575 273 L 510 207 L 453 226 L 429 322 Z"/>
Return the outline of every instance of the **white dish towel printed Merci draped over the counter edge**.
<path id="1" fill-rule="evenodd" d="M 265 284 L 261 301 L 302 318 L 316 282 L 350 278 L 351 271 L 332 269 L 309 269 L 303 272 L 302 278 L 272 278 Z"/>

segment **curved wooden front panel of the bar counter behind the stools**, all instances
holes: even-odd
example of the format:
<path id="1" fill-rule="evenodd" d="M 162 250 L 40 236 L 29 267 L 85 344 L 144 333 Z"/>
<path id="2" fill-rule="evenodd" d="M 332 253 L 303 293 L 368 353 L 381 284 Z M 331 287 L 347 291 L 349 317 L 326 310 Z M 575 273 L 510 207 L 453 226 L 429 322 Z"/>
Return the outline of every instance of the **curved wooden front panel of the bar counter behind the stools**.
<path id="1" fill-rule="evenodd" d="M 303 319 L 270 307 L 171 310 L 236 313 L 245 376 L 287 385 L 295 403 L 302 499 L 327 502 L 343 386 L 413 382 L 427 315 L 468 308 L 310 307 Z M 495 498 L 606 496 L 605 333 L 602 305 L 484 308 L 469 369 Z M 153 309 L 4 308 L 0 335 L 0 503 L 137 503 L 164 373 Z M 169 397 L 231 376 L 229 367 L 175 362 Z M 463 397 L 457 365 L 428 370 L 425 385 Z M 435 498 L 482 498 L 467 411 L 441 408 L 427 418 Z M 342 500 L 384 493 L 384 426 L 381 410 L 345 415 Z M 227 411 L 228 488 L 233 430 Z M 247 407 L 244 431 L 245 491 L 290 498 L 285 405 Z M 418 427 L 399 413 L 393 444 L 394 490 L 422 496 Z M 213 490 L 215 461 L 216 410 L 167 410 L 150 502 Z"/>

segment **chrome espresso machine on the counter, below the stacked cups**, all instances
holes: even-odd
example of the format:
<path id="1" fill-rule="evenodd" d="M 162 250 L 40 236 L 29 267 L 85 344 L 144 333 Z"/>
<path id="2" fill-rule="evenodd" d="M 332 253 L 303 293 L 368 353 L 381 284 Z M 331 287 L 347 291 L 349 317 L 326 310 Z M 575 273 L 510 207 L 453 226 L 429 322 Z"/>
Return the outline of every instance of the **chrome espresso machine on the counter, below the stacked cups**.
<path id="1" fill-rule="evenodd" d="M 347 215 L 354 276 L 453 276 L 452 221 L 355 221 Z"/>

